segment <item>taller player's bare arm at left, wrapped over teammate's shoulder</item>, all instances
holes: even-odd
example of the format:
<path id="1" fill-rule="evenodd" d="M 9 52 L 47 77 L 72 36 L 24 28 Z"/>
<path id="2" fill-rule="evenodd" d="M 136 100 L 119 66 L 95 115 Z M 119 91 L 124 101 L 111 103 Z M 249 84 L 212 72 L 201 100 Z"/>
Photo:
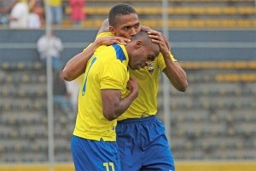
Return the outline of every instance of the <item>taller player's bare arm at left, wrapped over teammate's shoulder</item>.
<path id="1" fill-rule="evenodd" d="M 88 48 L 85 48 L 83 52 L 76 54 L 72 59 L 67 61 L 66 66 L 62 71 L 62 77 L 67 81 L 72 81 L 82 75 L 85 71 L 87 61 L 93 52 L 101 45 L 111 45 L 113 43 L 125 44 L 130 40 L 125 37 L 100 37 L 97 38 Z"/>

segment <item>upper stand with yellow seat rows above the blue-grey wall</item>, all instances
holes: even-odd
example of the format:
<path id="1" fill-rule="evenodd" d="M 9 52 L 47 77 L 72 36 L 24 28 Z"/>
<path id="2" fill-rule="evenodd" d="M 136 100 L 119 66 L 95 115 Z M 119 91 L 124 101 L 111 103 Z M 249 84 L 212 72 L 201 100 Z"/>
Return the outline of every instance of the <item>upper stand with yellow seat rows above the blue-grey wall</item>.
<path id="1" fill-rule="evenodd" d="M 102 20 L 108 17 L 111 7 L 119 3 L 116 0 L 96 0 L 84 3 L 86 20 L 83 26 L 87 28 L 99 28 Z M 162 1 L 125 1 L 137 9 L 143 25 L 159 29 L 163 26 Z M 166 9 L 169 15 L 168 26 L 171 28 L 212 28 L 212 27 L 256 27 L 256 9 L 253 0 L 174 0 L 168 1 L 169 7 Z M 66 3 L 66 19 L 63 26 L 70 26 L 69 15 L 71 8 Z"/>

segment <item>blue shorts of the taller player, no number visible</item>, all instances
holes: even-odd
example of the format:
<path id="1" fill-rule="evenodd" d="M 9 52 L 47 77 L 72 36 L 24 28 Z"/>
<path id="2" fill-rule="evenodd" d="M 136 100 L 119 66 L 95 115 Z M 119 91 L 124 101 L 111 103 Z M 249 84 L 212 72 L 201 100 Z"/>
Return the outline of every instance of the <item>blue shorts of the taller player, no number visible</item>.
<path id="1" fill-rule="evenodd" d="M 122 171 L 174 171 L 166 129 L 157 117 L 119 121 L 116 128 Z"/>

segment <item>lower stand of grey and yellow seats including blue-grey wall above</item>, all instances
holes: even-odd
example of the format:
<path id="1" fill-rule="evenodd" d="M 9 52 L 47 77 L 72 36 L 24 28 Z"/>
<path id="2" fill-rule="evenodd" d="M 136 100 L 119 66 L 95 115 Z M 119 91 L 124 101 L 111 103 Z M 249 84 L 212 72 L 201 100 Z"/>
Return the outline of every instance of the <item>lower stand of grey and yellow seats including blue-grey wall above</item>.
<path id="1" fill-rule="evenodd" d="M 46 71 L 35 50 L 43 32 L 0 31 L 0 162 L 48 160 Z M 63 40 L 65 63 L 93 40 L 96 31 L 61 29 L 55 33 Z M 169 35 L 172 52 L 189 79 L 185 93 L 174 88 L 170 92 L 170 136 L 177 162 L 255 160 L 255 31 L 171 30 Z M 23 48 L 15 48 L 20 40 Z M 74 121 L 58 106 L 54 114 L 55 161 L 72 162 L 69 144 Z"/>

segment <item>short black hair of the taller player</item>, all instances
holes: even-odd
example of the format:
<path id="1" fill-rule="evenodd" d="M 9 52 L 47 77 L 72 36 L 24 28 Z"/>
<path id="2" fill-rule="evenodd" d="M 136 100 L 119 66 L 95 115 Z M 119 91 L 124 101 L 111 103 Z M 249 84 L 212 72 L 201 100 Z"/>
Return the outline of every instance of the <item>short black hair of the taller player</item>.
<path id="1" fill-rule="evenodd" d="M 110 9 L 108 14 L 109 26 L 115 26 L 116 16 L 125 15 L 125 14 L 137 14 L 137 12 L 135 9 L 133 9 L 133 7 L 131 7 L 131 5 L 127 3 L 120 3 L 113 6 L 113 8 Z"/>

